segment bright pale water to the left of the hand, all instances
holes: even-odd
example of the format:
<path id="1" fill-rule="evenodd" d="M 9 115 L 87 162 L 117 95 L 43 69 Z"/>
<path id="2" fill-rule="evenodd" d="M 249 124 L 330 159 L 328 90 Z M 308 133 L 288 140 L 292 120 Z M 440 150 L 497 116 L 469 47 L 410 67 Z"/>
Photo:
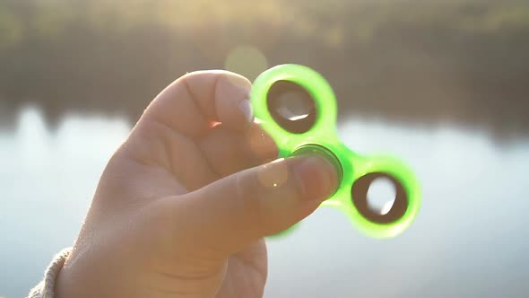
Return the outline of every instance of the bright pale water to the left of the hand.
<path id="1" fill-rule="evenodd" d="M 80 228 L 100 173 L 129 128 L 119 119 L 66 118 L 46 130 L 24 110 L 0 127 L 0 297 L 22 297 Z"/>

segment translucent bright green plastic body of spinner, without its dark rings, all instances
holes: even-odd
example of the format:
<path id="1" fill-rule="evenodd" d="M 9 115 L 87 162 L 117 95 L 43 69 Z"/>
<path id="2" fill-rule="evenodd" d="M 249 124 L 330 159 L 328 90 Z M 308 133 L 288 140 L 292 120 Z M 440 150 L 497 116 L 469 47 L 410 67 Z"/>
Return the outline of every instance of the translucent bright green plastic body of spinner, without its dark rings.
<path id="1" fill-rule="evenodd" d="M 315 101 L 316 120 L 308 131 L 291 133 L 276 123 L 268 110 L 267 94 L 273 83 L 290 81 L 307 90 Z M 339 139 L 336 131 L 336 100 L 325 78 L 307 66 L 274 66 L 260 74 L 253 84 L 251 102 L 264 130 L 278 145 L 280 157 L 306 152 L 326 154 L 339 172 L 340 186 L 322 206 L 332 206 L 343 212 L 361 232 L 375 238 L 395 237 L 412 224 L 421 206 L 421 188 L 412 170 L 392 156 L 369 156 L 352 151 Z M 330 155 L 329 155 L 330 154 Z M 391 223 L 377 223 L 361 215 L 353 204 L 351 187 L 360 177 L 385 173 L 400 182 L 408 205 L 403 215 Z M 366 189 L 367 191 L 367 189 Z M 284 233 L 282 233 L 284 234 Z"/>

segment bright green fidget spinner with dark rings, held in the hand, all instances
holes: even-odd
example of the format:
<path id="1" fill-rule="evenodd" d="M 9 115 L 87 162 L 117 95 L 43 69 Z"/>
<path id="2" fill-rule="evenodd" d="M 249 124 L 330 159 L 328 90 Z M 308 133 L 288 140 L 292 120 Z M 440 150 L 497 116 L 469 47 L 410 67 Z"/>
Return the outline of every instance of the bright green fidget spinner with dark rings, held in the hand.
<path id="1" fill-rule="evenodd" d="M 280 98 L 289 93 L 305 94 L 311 112 L 285 118 L 277 108 Z M 413 172 L 395 157 L 366 156 L 343 145 L 336 133 L 334 92 L 321 74 L 306 66 L 275 66 L 256 78 L 251 101 L 280 157 L 317 153 L 334 163 L 339 187 L 322 206 L 341 210 L 361 232 L 375 238 L 395 237 L 412 224 L 421 206 L 421 189 Z M 378 178 L 395 185 L 395 201 L 385 213 L 373 210 L 368 202 L 369 186 Z"/>

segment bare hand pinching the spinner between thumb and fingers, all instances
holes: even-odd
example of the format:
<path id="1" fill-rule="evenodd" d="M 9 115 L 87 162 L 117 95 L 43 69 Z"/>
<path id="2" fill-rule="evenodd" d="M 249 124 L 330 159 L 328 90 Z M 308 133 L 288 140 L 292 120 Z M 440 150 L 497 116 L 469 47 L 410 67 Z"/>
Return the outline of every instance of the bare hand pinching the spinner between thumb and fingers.
<path id="1" fill-rule="evenodd" d="M 56 297 L 262 297 L 263 237 L 336 187 L 323 158 L 273 161 L 250 83 L 196 72 L 145 110 L 104 171 Z"/>

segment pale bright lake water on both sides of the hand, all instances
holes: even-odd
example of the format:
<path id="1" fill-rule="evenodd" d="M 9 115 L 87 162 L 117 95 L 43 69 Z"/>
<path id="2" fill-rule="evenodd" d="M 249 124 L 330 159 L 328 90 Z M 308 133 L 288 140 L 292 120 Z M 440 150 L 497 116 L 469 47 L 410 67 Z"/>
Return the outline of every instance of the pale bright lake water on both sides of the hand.
<path id="1" fill-rule="evenodd" d="M 46 129 L 26 109 L 0 127 L 0 297 L 22 297 L 71 245 L 122 118 L 69 116 Z M 290 237 L 269 241 L 266 297 L 525 297 L 529 293 L 529 140 L 499 145 L 486 131 L 352 119 L 340 127 L 360 152 L 412 164 L 423 205 L 412 227 L 369 239 L 320 208 Z"/>

